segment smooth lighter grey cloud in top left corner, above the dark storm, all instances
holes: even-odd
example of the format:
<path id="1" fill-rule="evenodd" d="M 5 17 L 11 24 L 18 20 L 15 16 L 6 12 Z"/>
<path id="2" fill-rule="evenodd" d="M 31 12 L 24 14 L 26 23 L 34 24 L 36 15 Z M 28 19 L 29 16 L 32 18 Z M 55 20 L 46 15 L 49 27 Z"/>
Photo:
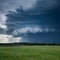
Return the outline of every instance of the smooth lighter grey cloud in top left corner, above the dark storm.
<path id="1" fill-rule="evenodd" d="M 8 10 L 15 10 L 19 6 L 30 8 L 35 0 L 0 0 L 0 13 L 5 13 Z"/>

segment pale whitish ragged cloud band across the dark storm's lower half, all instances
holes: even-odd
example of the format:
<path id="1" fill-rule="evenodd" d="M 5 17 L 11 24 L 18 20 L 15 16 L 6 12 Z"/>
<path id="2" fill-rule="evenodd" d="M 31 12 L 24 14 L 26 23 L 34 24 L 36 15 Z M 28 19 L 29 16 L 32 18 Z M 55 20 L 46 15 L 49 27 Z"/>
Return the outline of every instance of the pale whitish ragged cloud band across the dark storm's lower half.
<path id="1" fill-rule="evenodd" d="M 55 28 L 49 28 L 49 27 L 46 27 L 46 26 L 33 26 L 33 27 L 22 27 L 22 28 L 18 28 L 18 29 L 15 29 L 13 31 L 13 35 L 14 36 L 17 36 L 19 34 L 27 34 L 27 33 L 41 33 L 41 32 L 56 32 L 56 29 Z"/>

